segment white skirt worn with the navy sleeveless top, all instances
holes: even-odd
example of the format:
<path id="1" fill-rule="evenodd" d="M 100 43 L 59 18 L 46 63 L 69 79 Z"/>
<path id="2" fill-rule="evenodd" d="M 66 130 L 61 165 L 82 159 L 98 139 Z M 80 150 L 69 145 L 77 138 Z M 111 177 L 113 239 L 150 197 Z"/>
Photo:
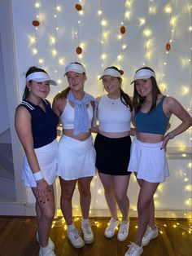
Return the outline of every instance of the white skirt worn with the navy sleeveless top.
<path id="1" fill-rule="evenodd" d="M 53 142 L 47 144 L 46 146 L 43 146 L 41 148 L 35 148 L 34 150 L 36 152 L 37 160 L 44 179 L 46 179 L 46 182 L 49 185 L 53 184 L 56 178 L 58 152 L 57 140 L 55 139 Z M 33 177 L 33 172 L 28 165 L 28 159 L 26 156 L 24 156 L 23 179 L 24 185 L 26 187 L 37 187 L 37 183 Z"/>

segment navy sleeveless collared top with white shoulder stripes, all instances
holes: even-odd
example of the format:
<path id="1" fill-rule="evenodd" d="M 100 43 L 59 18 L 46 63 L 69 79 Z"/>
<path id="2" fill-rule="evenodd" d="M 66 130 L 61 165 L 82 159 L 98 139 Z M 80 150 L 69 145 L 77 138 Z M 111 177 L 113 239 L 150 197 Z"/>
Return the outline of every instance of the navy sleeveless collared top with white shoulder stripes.
<path id="1" fill-rule="evenodd" d="M 23 100 L 20 106 L 28 109 L 31 114 L 34 148 L 41 148 L 57 138 L 59 117 L 50 108 L 46 99 L 42 99 L 46 112 L 38 105 L 28 100 Z"/>

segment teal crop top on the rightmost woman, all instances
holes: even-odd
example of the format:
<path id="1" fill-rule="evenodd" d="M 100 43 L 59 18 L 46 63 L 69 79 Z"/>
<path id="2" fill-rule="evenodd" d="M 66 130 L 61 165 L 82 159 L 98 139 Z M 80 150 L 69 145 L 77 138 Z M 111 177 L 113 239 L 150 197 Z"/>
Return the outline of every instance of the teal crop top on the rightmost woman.
<path id="1" fill-rule="evenodd" d="M 166 96 L 162 97 L 155 110 L 142 113 L 139 110 L 133 117 L 137 132 L 146 134 L 164 135 L 168 126 L 169 117 L 164 113 L 163 104 Z"/>

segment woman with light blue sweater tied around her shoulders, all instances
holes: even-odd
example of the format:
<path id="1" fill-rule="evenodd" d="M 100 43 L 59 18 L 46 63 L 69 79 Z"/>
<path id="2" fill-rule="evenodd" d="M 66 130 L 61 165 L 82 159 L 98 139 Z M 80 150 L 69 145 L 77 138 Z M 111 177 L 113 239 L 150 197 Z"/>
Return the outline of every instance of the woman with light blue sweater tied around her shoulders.
<path id="1" fill-rule="evenodd" d="M 95 174 L 95 151 L 91 137 L 94 119 L 94 97 L 84 91 L 85 68 L 71 63 L 65 68 L 68 88 L 55 96 L 53 109 L 63 125 L 59 140 L 57 174 L 61 185 L 61 210 L 68 224 L 68 239 L 75 248 L 94 241 L 89 226 L 90 183 Z M 72 196 L 78 183 L 80 192 L 82 232 L 84 240 L 72 223 Z"/>

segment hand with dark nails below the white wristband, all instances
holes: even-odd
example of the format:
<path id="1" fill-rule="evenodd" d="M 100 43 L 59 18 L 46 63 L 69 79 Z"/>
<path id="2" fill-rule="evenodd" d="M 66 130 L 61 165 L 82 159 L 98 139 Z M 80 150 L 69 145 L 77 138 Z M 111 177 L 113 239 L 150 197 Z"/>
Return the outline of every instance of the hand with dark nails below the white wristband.
<path id="1" fill-rule="evenodd" d="M 42 179 L 40 182 L 37 183 L 37 191 L 36 191 L 37 201 L 45 204 L 46 201 L 49 201 L 49 198 L 50 198 L 49 193 L 50 193 L 50 186 L 45 179 Z"/>

